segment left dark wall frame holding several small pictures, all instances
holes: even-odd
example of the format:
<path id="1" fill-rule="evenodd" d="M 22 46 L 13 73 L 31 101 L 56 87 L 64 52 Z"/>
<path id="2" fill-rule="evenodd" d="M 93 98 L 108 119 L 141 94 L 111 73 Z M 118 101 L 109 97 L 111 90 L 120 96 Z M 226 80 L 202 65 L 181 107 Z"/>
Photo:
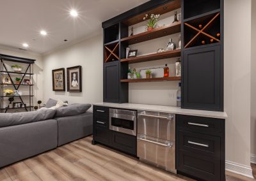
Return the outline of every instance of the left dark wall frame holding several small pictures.
<path id="1" fill-rule="evenodd" d="M 52 70 L 52 91 L 66 91 L 65 68 Z"/>

